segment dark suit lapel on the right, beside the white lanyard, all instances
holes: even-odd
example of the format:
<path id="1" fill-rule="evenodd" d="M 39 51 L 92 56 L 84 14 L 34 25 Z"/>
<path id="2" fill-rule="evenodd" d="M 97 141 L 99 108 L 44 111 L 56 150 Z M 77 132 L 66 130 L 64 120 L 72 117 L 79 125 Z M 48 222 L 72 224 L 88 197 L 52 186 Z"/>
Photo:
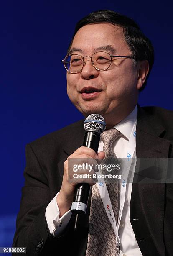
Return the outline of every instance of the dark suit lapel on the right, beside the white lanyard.
<path id="1" fill-rule="evenodd" d="M 143 158 L 168 158 L 170 141 L 160 138 L 165 129 L 160 125 L 157 119 L 146 115 L 138 107 L 138 120 L 136 129 L 136 153 L 137 164 L 141 169 Z M 140 162 L 139 162 L 140 161 Z M 152 162 L 152 161 L 151 161 Z M 136 170 L 135 170 L 136 172 Z M 152 169 L 151 171 L 152 172 Z M 146 175 L 146 170 L 142 170 Z M 151 174 L 152 176 L 152 174 Z M 139 177 L 138 177 L 139 181 Z M 130 203 L 130 220 L 133 226 L 133 219 L 136 218 L 136 212 L 144 215 L 150 237 L 152 237 L 156 248 L 163 253 L 163 218 L 165 207 L 165 184 L 133 184 Z M 138 202 L 139 205 L 136 205 Z M 144 224 L 144 225 L 145 225 Z M 140 230 L 142 233 L 142 230 Z M 135 236 L 139 237 L 137 230 L 134 230 Z M 140 244 L 139 244 L 140 246 Z"/>

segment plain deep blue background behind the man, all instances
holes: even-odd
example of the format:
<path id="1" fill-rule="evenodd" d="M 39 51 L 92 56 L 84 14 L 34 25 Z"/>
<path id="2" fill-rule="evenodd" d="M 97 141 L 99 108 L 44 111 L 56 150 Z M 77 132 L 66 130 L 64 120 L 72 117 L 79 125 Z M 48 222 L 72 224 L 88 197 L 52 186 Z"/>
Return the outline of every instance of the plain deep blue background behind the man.
<path id="1" fill-rule="evenodd" d="M 76 22 L 99 9 L 137 21 L 155 48 L 155 64 L 139 103 L 173 110 L 173 21 L 168 1 L 6 0 L 0 5 L 0 246 L 11 246 L 25 145 L 82 118 L 67 97 L 61 64 Z"/>

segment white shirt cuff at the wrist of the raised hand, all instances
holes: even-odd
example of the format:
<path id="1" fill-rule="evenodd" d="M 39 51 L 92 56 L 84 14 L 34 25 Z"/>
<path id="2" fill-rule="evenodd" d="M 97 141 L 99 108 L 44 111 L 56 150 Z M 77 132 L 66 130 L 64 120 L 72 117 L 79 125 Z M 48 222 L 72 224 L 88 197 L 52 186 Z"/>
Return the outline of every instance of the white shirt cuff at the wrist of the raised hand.
<path id="1" fill-rule="evenodd" d="M 71 218 L 71 210 L 69 210 L 63 216 L 61 216 L 61 218 L 59 218 L 59 207 L 56 202 L 56 197 L 58 194 L 59 192 L 56 194 L 55 197 L 53 197 L 51 202 L 48 204 L 45 212 L 48 229 L 53 236 L 60 236 L 65 230 Z"/>

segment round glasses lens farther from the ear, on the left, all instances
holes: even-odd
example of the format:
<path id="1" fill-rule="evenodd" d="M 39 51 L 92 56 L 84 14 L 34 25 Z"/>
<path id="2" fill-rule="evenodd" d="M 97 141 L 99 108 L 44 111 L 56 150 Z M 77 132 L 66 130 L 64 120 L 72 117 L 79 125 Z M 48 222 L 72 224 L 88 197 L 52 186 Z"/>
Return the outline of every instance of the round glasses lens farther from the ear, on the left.
<path id="1" fill-rule="evenodd" d="M 83 59 L 80 55 L 72 54 L 64 59 L 66 69 L 71 73 L 78 73 L 83 67 Z"/>

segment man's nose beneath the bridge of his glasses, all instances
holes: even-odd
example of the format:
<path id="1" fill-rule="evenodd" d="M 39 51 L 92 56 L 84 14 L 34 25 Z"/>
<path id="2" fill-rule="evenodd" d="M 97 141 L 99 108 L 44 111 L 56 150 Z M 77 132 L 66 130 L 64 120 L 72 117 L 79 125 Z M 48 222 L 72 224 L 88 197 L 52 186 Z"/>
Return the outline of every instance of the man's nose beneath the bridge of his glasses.
<path id="1" fill-rule="evenodd" d="M 98 77 L 98 75 L 99 71 L 93 67 L 91 57 L 85 57 L 84 67 L 81 71 L 81 77 L 83 79 L 89 80 Z"/>

